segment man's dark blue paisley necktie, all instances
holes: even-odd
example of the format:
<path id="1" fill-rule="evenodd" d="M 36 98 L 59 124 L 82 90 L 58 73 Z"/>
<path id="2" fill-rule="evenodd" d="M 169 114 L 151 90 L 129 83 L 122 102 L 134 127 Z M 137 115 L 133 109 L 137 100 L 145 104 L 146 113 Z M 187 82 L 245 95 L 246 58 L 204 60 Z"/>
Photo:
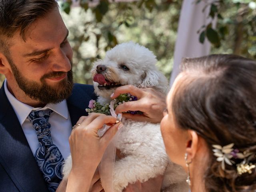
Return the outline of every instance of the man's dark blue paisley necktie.
<path id="1" fill-rule="evenodd" d="M 51 125 L 48 123 L 52 112 L 50 109 L 33 111 L 27 118 L 36 130 L 40 145 L 35 154 L 36 162 L 44 175 L 49 191 L 55 192 L 62 180 L 64 159 L 58 147 L 52 144 Z"/>

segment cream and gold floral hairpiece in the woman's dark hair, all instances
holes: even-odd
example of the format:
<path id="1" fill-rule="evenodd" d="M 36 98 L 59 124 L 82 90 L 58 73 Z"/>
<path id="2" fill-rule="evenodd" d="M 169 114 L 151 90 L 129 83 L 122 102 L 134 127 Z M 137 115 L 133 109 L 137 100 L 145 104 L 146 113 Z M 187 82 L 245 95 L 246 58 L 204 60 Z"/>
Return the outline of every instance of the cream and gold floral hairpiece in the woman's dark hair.
<path id="1" fill-rule="evenodd" d="M 234 143 L 228 144 L 226 146 L 220 145 L 212 145 L 214 148 L 212 151 L 214 152 L 214 156 L 217 157 L 217 161 L 221 162 L 222 170 L 225 170 L 225 163 L 228 165 L 236 165 L 236 170 L 239 175 L 244 173 L 252 173 L 252 169 L 256 168 L 256 164 L 250 163 L 250 160 L 256 157 L 255 153 L 244 151 L 243 153 L 239 152 L 238 149 L 233 148 Z M 232 158 L 234 159 L 243 159 L 243 161 L 239 164 L 236 164 Z"/>

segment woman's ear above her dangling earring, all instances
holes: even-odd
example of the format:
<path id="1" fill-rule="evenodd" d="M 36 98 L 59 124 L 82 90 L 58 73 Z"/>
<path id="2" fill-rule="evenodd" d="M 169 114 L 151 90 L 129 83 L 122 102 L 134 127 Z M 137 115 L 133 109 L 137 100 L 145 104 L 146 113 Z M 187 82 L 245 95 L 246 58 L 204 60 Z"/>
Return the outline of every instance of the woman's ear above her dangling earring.
<path id="1" fill-rule="evenodd" d="M 186 153 L 188 154 L 188 162 L 190 162 L 198 151 L 198 134 L 193 130 L 188 130 L 188 137 Z"/>

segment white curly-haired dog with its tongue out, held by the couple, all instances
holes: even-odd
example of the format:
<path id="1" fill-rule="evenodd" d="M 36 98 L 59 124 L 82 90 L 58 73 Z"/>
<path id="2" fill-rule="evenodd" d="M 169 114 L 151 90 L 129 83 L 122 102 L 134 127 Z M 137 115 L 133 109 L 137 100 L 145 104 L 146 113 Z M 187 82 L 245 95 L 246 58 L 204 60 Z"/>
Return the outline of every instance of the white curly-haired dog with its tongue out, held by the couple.
<path id="1" fill-rule="evenodd" d="M 97 74 L 104 76 L 94 78 L 98 102 L 109 103 L 115 88 L 128 84 L 139 88 L 154 88 L 167 94 L 167 79 L 157 70 L 156 62 L 156 56 L 150 50 L 133 42 L 118 44 L 106 52 L 104 60 L 94 62 L 91 71 L 93 77 Z M 161 191 L 188 192 L 186 173 L 180 166 L 170 162 L 166 155 L 160 124 L 124 118 L 122 123 L 124 126 L 116 147 L 125 157 L 116 160 L 114 164 L 114 191 L 122 192 L 128 183 L 137 180 L 145 182 L 164 174 Z M 68 177 L 71 167 L 72 161 L 68 158 L 63 168 L 64 178 Z"/>

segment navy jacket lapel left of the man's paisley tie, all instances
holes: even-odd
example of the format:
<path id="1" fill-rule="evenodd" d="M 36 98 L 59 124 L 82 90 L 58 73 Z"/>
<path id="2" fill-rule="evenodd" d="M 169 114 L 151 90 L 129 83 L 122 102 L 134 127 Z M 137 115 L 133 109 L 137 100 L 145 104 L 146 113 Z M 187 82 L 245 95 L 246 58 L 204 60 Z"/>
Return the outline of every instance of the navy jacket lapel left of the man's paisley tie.
<path id="1" fill-rule="evenodd" d="M 0 164 L 20 191 L 48 191 L 18 118 L 0 89 Z"/>

